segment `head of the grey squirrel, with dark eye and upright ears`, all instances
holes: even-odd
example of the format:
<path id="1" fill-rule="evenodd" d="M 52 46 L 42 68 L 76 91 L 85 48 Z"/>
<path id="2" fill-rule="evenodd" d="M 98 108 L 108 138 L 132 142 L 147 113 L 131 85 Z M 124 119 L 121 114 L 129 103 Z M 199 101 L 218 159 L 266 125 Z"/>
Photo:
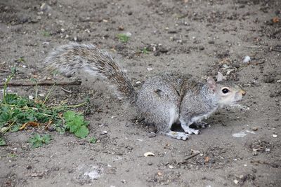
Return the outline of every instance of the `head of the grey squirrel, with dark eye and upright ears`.
<path id="1" fill-rule="evenodd" d="M 217 82 L 214 81 L 214 78 L 209 77 L 207 79 L 207 85 L 209 90 L 218 98 L 218 104 L 220 106 L 235 104 L 246 94 L 239 85 L 230 81 L 223 81 L 223 74 L 219 72 Z"/>

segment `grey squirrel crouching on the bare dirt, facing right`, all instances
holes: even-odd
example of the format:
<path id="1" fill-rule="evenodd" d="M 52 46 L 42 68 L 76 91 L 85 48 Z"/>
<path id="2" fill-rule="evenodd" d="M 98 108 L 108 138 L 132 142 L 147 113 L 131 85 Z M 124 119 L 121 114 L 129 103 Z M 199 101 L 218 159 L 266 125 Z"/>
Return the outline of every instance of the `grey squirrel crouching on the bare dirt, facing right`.
<path id="1" fill-rule="evenodd" d="M 206 83 L 183 74 L 164 73 L 148 78 L 137 92 L 112 56 L 91 44 L 60 46 L 46 57 L 45 63 L 49 70 L 58 70 L 66 76 L 79 70 L 91 77 L 104 78 L 118 95 L 130 99 L 145 122 L 157 127 L 157 132 L 182 140 L 200 133 L 190 125 L 204 125 L 202 119 L 220 107 L 239 102 L 246 94 L 235 83 L 223 81 L 219 72 L 217 81 L 208 77 Z M 172 131 L 174 123 L 181 123 L 184 132 Z"/>

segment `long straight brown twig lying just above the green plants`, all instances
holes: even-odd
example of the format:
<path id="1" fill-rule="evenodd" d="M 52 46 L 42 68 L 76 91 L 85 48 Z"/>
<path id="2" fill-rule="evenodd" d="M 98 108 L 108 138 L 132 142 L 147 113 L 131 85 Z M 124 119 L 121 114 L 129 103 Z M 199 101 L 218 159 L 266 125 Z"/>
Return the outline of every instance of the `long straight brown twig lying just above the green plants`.
<path id="1" fill-rule="evenodd" d="M 55 82 L 55 81 L 39 81 L 37 83 L 37 85 L 81 85 L 81 81 L 72 81 L 72 82 Z M 5 83 L 0 83 L 0 86 L 4 86 Z M 34 86 L 36 85 L 36 83 L 32 83 L 32 82 L 26 82 L 26 83 L 22 83 L 22 82 L 9 82 L 7 83 L 7 85 L 10 86 Z"/>

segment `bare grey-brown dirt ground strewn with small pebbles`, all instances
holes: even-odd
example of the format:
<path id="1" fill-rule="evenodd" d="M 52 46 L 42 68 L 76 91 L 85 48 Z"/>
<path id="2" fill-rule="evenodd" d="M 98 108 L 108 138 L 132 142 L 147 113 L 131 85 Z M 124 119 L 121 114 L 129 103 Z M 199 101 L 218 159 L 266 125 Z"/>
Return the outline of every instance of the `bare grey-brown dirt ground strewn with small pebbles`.
<path id="1" fill-rule="evenodd" d="M 279 0 L 1 0 L 1 82 L 9 75 L 3 69 L 13 66 L 13 81 L 76 79 L 53 77 L 42 62 L 56 46 L 77 41 L 109 51 L 136 89 L 162 71 L 202 81 L 221 71 L 247 95 L 243 108 L 220 109 L 201 134 L 180 141 L 155 135 L 126 100 L 78 75 L 82 85 L 63 86 L 72 93 L 57 86 L 48 102 L 77 104 L 89 96 L 89 137 L 98 142 L 44 127 L 6 133 L 0 186 L 280 186 L 280 11 Z M 131 34 L 127 43 L 117 39 L 124 33 Z M 39 86 L 39 93 L 49 89 Z M 9 92 L 29 96 L 34 88 Z M 53 140 L 30 148 L 32 132 Z M 145 157 L 148 151 L 155 156 Z"/>

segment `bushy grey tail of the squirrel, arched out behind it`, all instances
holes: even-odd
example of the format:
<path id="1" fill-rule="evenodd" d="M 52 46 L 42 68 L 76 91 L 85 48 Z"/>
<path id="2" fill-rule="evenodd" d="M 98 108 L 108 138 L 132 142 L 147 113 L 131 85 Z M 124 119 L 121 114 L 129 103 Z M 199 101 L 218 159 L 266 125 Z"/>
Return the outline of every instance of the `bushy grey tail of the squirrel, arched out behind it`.
<path id="1" fill-rule="evenodd" d="M 92 77 L 105 78 L 118 95 L 134 100 L 136 90 L 112 57 L 93 45 L 70 43 L 55 49 L 45 60 L 49 68 L 65 75 L 86 71 Z"/>

